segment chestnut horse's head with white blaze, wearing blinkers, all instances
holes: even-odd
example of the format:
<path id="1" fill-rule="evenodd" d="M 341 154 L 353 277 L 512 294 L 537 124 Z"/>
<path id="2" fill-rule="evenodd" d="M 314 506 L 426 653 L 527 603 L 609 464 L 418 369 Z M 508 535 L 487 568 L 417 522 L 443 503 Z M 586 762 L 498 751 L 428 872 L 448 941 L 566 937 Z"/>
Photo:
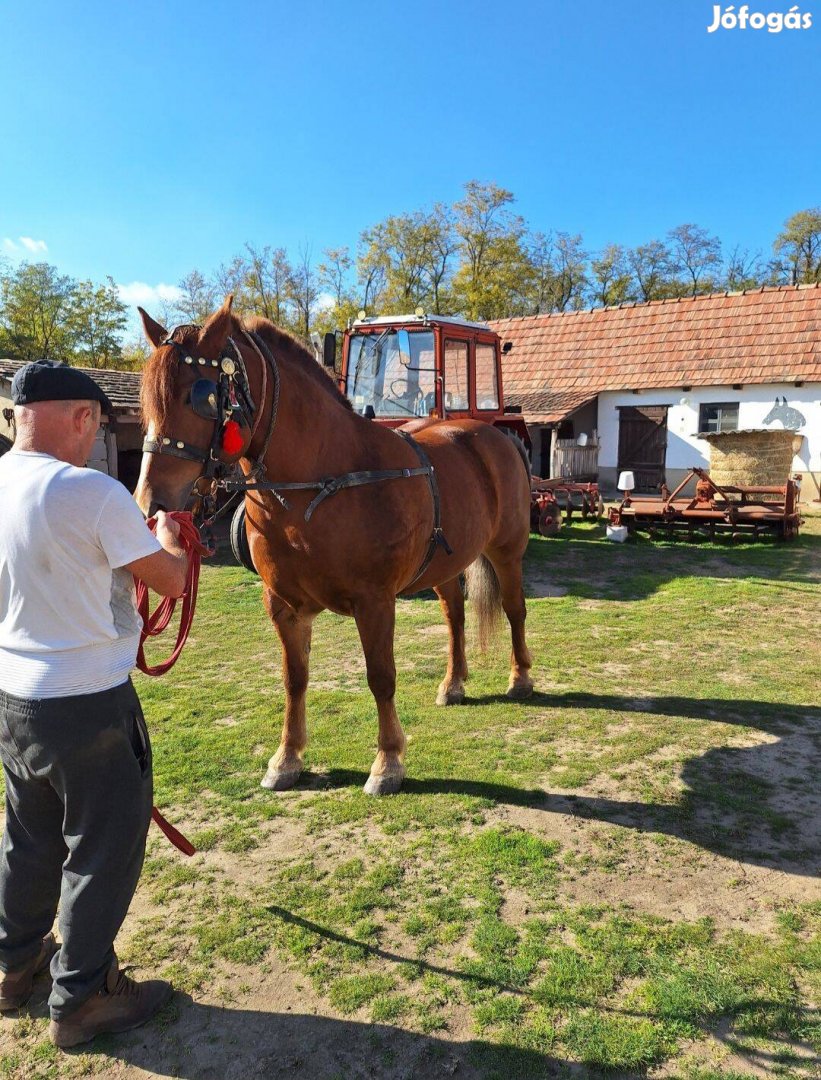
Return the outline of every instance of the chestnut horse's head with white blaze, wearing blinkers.
<path id="1" fill-rule="evenodd" d="M 234 383 L 242 362 L 230 338 L 231 300 L 204 326 L 179 326 L 171 335 L 139 309 L 153 347 L 143 373 L 146 441 L 134 492 L 147 516 L 181 510 L 198 478 L 210 480 L 220 461 L 235 461 L 247 443 L 251 417 Z"/>

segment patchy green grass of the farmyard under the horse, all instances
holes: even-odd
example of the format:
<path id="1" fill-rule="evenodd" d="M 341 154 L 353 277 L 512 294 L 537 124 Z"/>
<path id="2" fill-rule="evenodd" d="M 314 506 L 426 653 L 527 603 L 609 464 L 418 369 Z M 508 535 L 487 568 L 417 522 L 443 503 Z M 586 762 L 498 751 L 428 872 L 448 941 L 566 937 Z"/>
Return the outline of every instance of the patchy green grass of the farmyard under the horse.
<path id="1" fill-rule="evenodd" d="M 466 704 L 438 708 L 439 606 L 401 600 L 408 775 L 385 799 L 361 791 L 376 720 L 355 626 L 329 613 L 306 777 L 259 788 L 282 716 L 279 645 L 257 579 L 205 567 L 183 660 L 138 685 L 158 802 L 201 853 L 152 837 L 124 959 L 226 995 L 231 973 L 253 995 L 284 962 L 331 1015 L 417 1032 L 432 1053 L 467 1027 L 487 1080 L 565 1065 L 731 1080 L 748 1075 L 739 1062 L 808 1077 L 821 903 L 767 906 L 744 882 L 749 867 L 789 885 L 816 865 L 820 537 L 811 518 L 791 544 L 620 546 L 587 524 L 535 538 L 537 692 L 521 703 L 503 696 L 500 640 L 471 654 Z M 540 598 L 546 578 L 567 594 Z M 710 896 L 685 919 L 632 887 L 651 869 L 689 895 L 705 867 L 728 897 L 717 921 L 701 915 Z M 43 1022 L 17 1023 L 0 1077 L 56 1076 Z M 710 1039 L 718 1059 L 692 1056 Z M 59 1075 L 111 1059 L 60 1058 Z"/>

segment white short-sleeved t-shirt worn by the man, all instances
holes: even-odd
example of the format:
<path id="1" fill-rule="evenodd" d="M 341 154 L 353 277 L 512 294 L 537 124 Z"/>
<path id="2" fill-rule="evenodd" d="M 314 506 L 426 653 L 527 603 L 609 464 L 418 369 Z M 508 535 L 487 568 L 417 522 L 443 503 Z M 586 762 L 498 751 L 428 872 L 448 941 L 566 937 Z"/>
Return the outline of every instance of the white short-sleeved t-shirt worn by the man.
<path id="1" fill-rule="evenodd" d="M 0 689 L 62 698 L 124 683 L 142 623 L 122 567 L 160 550 L 105 473 L 32 450 L 0 457 Z"/>

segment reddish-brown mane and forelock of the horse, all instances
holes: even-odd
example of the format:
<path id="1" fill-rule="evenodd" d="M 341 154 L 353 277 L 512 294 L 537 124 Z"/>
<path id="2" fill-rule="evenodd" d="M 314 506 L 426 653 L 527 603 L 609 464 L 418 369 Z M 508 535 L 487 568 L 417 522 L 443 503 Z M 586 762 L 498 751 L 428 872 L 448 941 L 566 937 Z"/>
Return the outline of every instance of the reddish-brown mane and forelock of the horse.
<path id="1" fill-rule="evenodd" d="M 317 363 L 313 355 L 302 342 L 287 330 L 281 329 L 268 319 L 252 315 L 248 319 L 233 319 L 231 335 L 238 329 L 258 334 L 269 347 L 277 361 L 293 360 L 299 369 L 312 379 L 325 393 L 331 394 L 345 408 L 351 408 L 351 403 L 339 390 L 333 376 L 328 376 L 324 367 Z M 188 349 L 196 351 L 201 326 L 193 323 L 177 326 L 171 339 Z M 143 381 L 139 392 L 139 403 L 143 413 L 143 423 L 152 421 L 158 432 L 164 432 L 169 416 L 174 407 L 179 357 L 176 349 L 160 347 L 146 364 L 143 370 Z"/>

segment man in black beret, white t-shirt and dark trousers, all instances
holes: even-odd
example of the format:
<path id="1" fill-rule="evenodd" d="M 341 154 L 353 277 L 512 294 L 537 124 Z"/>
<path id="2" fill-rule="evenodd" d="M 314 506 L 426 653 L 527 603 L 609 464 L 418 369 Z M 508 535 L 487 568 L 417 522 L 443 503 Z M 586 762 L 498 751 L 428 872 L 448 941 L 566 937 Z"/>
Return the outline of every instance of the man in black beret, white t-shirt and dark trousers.
<path id="1" fill-rule="evenodd" d="M 0 1012 L 51 962 L 58 1047 L 145 1023 L 169 983 L 135 983 L 113 941 L 139 878 L 151 748 L 130 672 L 134 578 L 185 589 L 179 526 L 156 536 L 126 489 L 86 469 L 110 403 L 77 368 L 38 361 L 12 381 L 17 429 L 0 458 Z M 51 928 L 59 903 L 57 946 Z"/>

